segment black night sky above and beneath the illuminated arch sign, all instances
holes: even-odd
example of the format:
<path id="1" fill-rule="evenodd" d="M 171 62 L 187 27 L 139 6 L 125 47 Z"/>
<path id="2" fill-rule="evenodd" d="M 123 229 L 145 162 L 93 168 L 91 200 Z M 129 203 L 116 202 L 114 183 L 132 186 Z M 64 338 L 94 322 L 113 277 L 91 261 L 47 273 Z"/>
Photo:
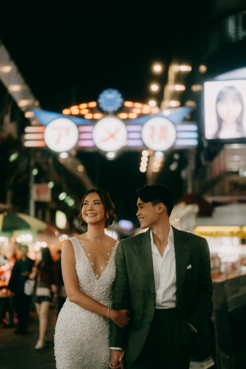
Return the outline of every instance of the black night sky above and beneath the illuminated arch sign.
<path id="1" fill-rule="evenodd" d="M 0 39 L 45 110 L 96 100 L 111 87 L 125 99 L 147 102 L 152 63 L 167 67 L 173 57 L 192 62 L 209 27 L 212 2 L 5 1 Z M 165 78 L 159 78 L 163 85 Z M 107 161 L 78 153 L 94 183 L 111 193 L 120 216 L 128 219 L 135 219 L 135 190 L 146 181 L 140 156 L 125 153 Z M 162 181 L 178 199 L 182 182 L 172 176 L 166 173 Z"/>

